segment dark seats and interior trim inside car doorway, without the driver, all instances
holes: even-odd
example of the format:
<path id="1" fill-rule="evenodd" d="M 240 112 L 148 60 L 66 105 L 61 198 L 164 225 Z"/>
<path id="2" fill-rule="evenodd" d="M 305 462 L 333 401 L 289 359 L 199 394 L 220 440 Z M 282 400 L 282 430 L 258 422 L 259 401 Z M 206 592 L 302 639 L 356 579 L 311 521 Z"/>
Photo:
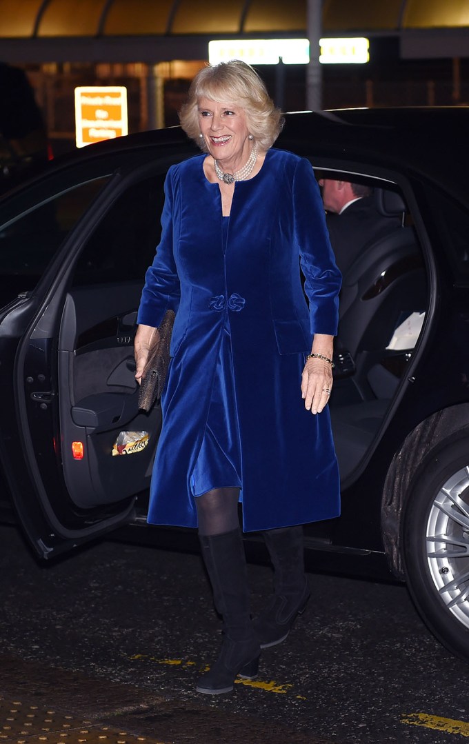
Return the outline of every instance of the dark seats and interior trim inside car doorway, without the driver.
<path id="1" fill-rule="evenodd" d="M 372 196 L 379 214 L 400 217 L 401 225 L 364 245 L 342 276 L 330 402 L 342 481 L 386 417 L 427 304 L 427 273 L 403 197 L 382 186 L 373 186 Z"/>

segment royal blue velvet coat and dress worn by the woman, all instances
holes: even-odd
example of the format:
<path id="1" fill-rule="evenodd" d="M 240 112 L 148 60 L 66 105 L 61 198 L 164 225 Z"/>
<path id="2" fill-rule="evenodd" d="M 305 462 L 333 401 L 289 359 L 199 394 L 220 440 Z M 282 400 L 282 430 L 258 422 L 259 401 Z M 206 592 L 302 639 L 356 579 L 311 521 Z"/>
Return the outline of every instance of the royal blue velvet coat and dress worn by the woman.
<path id="1" fill-rule="evenodd" d="M 233 486 L 246 531 L 331 519 L 329 411 L 306 411 L 300 389 L 313 333 L 336 333 L 340 286 L 313 169 L 269 150 L 260 172 L 234 185 L 223 218 L 204 158 L 167 173 L 138 311 L 155 327 L 176 311 L 148 521 L 197 527 L 194 498 Z"/>

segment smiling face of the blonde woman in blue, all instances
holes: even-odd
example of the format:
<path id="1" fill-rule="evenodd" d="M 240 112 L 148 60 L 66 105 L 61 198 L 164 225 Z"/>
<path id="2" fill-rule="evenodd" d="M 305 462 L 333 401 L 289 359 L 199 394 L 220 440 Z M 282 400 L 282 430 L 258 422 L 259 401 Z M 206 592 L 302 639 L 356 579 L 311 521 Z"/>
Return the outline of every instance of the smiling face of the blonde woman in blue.
<path id="1" fill-rule="evenodd" d="M 220 162 L 242 166 L 249 158 L 246 113 L 235 103 L 199 100 L 199 124 L 208 152 Z"/>

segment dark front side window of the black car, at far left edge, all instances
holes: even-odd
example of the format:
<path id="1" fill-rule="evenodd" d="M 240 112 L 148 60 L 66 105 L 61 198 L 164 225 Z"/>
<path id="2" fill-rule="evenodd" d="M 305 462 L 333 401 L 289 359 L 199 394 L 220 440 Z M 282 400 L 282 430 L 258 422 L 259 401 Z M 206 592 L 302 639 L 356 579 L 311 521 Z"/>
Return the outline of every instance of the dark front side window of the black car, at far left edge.
<path id="1" fill-rule="evenodd" d="M 0 225 L 0 307 L 39 282 L 77 220 L 109 176 L 54 194 Z M 14 204 L 13 204 L 14 209 Z M 11 212 L 10 212 L 11 214 Z"/>

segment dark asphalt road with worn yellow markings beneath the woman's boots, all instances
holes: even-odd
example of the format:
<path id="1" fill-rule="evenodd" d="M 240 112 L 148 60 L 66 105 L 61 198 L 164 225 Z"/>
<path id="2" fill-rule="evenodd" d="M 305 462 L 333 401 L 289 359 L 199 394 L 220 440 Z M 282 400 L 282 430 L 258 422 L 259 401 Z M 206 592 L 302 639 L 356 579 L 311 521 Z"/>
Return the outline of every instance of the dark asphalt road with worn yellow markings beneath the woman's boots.
<path id="1" fill-rule="evenodd" d="M 39 565 L 13 527 L 0 527 L 0 546 L 5 699 L 107 716 L 165 744 L 469 737 L 469 667 L 402 586 L 309 574 L 307 612 L 264 651 L 258 682 L 211 698 L 194 691 L 220 640 L 199 557 L 102 542 Z M 255 611 L 271 574 L 252 565 L 249 577 Z"/>

